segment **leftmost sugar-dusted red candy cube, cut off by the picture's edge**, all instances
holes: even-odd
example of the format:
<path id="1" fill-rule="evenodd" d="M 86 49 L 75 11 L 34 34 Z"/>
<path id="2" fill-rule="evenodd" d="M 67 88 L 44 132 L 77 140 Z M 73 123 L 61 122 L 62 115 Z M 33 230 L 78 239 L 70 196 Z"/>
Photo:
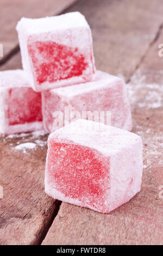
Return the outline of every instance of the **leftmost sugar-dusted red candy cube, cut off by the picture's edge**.
<path id="1" fill-rule="evenodd" d="M 30 87 L 23 70 L 0 72 L 0 133 L 42 130 L 41 93 Z"/>

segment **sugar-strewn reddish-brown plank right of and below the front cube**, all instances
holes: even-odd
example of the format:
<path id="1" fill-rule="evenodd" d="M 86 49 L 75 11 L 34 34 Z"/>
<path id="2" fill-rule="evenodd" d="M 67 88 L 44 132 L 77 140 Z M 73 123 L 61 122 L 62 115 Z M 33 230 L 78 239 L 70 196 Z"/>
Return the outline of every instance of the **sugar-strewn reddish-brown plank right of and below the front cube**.
<path id="1" fill-rule="evenodd" d="M 144 144 L 141 192 L 108 215 L 62 203 L 43 245 L 162 245 L 163 199 L 159 198 L 159 187 L 163 185 L 163 75 L 158 75 L 159 84 L 155 84 L 156 70 L 150 68 L 150 77 L 139 82 L 153 59 L 158 58 L 157 46 L 158 41 L 146 58 L 147 65 L 140 66 L 129 84 L 133 132 L 142 137 Z M 159 68 L 162 59 L 158 60 Z"/>

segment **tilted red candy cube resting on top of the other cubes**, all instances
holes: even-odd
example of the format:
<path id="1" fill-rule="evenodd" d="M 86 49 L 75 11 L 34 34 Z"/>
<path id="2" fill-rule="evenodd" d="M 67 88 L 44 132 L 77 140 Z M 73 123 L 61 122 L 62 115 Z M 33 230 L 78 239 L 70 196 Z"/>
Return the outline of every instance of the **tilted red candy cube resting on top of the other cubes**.
<path id="1" fill-rule="evenodd" d="M 92 35 L 79 12 L 17 25 L 23 69 L 36 92 L 93 80 Z"/>

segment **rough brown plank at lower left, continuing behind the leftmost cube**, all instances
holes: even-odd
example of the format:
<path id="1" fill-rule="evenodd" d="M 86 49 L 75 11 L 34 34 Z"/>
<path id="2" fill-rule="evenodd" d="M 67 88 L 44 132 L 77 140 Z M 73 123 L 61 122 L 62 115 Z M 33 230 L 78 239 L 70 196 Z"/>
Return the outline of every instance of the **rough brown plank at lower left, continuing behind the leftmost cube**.
<path id="1" fill-rule="evenodd" d="M 20 53 L 1 67 L 21 68 Z M 34 143 L 33 150 L 16 150 L 22 143 Z M 0 244 L 41 243 L 53 221 L 58 201 L 44 192 L 47 135 L 24 133 L 0 137 Z"/>

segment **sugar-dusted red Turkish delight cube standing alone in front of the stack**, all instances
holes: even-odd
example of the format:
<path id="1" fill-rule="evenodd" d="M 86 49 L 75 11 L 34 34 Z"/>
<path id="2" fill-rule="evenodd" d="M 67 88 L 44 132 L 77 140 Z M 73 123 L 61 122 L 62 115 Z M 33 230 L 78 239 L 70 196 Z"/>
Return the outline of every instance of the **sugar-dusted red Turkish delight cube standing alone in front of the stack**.
<path id="1" fill-rule="evenodd" d="M 134 133 L 78 119 L 51 133 L 46 193 L 108 213 L 140 191 L 142 139 Z"/>

